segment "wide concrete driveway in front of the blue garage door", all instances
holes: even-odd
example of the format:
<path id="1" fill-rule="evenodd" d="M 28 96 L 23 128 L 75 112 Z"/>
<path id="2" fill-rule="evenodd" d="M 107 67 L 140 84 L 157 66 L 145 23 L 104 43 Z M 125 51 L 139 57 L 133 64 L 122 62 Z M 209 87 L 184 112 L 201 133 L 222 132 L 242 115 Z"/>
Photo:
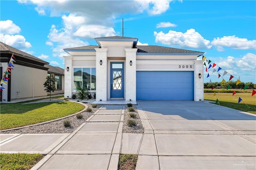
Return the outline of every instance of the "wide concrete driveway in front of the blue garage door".
<path id="1" fill-rule="evenodd" d="M 256 115 L 194 101 L 138 101 L 136 169 L 256 169 Z"/>

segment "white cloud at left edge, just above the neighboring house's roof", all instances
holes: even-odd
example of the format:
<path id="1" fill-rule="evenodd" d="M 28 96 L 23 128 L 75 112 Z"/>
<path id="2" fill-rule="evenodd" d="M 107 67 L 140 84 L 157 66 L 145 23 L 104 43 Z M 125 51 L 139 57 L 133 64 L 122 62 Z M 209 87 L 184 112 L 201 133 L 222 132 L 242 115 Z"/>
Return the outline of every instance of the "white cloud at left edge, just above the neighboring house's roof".
<path id="1" fill-rule="evenodd" d="M 0 34 L 0 39 L 3 43 L 6 43 L 7 45 L 10 45 L 20 50 L 32 47 L 32 45 L 29 42 L 26 42 L 24 36 L 21 35 Z"/>

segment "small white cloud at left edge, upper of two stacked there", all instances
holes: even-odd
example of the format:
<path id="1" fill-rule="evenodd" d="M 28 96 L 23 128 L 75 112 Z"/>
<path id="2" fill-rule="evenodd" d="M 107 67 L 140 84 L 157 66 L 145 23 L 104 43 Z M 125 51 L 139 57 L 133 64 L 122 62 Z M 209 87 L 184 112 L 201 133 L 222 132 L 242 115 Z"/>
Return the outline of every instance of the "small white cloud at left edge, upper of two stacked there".
<path id="1" fill-rule="evenodd" d="M 21 30 L 12 20 L 0 21 L 0 28 L 2 34 L 17 34 Z"/>

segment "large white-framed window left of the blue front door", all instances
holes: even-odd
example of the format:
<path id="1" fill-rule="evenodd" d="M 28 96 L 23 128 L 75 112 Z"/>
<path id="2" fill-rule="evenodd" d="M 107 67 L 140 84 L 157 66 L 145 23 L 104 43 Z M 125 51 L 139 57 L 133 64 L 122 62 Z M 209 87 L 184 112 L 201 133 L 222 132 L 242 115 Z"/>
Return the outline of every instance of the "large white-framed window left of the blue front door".
<path id="1" fill-rule="evenodd" d="M 96 90 L 96 68 L 74 68 L 74 90 Z"/>

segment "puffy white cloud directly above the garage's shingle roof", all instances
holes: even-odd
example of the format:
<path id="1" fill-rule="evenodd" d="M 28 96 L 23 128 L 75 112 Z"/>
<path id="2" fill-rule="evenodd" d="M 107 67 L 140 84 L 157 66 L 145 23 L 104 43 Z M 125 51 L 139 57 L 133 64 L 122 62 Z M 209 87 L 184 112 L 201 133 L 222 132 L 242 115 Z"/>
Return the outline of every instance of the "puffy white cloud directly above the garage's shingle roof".
<path id="1" fill-rule="evenodd" d="M 210 41 L 204 39 L 196 30 L 190 29 L 185 33 L 170 30 L 168 33 L 154 32 L 155 42 L 182 48 L 210 49 Z"/>

